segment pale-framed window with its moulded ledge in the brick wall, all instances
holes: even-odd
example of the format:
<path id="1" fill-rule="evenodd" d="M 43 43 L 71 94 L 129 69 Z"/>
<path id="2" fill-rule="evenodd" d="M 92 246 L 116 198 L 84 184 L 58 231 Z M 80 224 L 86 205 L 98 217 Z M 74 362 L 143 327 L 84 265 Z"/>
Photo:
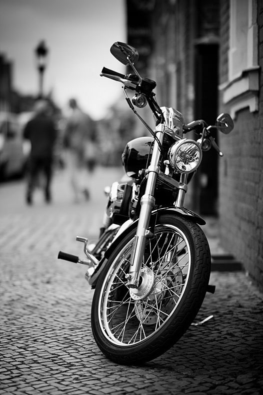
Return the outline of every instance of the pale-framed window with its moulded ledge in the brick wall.
<path id="1" fill-rule="evenodd" d="M 220 89 L 232 117 L 245 107 L 258 110 L 256 13 L 256 0 L 230 0 L 228 82 Z"/>

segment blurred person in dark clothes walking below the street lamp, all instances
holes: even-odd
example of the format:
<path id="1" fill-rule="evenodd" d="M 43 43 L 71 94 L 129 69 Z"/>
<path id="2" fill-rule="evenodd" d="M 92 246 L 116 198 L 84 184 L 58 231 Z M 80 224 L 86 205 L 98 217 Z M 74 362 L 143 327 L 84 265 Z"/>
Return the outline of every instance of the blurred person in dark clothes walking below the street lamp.
<path id="1" fill-rule="evenodd" d="M 34 116 L 24 127 L 23 137 L 30 141 L 31 151 L 28 161 L 26 203 L 32 204 L 32 194 L 40 176 L 44 180 L 44 198 L 46 203 L 51 201 L 50 183 L 56 128 L 50 115 L 50 107 L 46 100 L 37 100 L 34 106 Z"/>

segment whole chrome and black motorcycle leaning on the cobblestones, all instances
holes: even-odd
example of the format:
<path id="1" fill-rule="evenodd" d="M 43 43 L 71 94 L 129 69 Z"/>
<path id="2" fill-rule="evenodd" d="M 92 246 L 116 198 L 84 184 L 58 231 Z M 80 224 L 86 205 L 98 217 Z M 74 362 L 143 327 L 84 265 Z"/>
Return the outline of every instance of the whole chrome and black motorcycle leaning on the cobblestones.
<path id="1" fill-rule="evenodd" d="M 128 142 L 122 164 L 128 180 L 107 191 L 101 235 L 88 245 L 85 259 L 59 252 L 58 258 L 85 264 L 94 288 L 91 306 L 93 337 L 110 360 L 141 364 L 156 358 L 185 333 L 195 318 L 209 285 L 210 250 L 200 228 L 205 221 L 184 207 L 187 185 L 213 147 L 222 156 L 213 130 L 228 134 L 233 121 L 220 114 L 215 125 L 197 120 L 184 124 L 177 110 L 159 107 L 156 83 L 135 68 L 138 52 L 116 42 L 111 54 L 132 73 L 103 68 L 102 77 L 120 82 L 128 106 L 149 131 L 149 137 Z M 126 91 L 133 91 L 130 100 Z M 155 128 L 135 110 L 149 106 Z M 185 135 L 193 131 L 197 140 Z"/>

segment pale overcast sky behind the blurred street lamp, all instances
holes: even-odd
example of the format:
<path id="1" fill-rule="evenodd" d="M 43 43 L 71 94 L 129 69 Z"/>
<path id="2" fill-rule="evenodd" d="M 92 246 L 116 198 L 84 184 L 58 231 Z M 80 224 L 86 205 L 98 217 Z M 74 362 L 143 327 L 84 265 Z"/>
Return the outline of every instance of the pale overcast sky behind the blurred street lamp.
<path id="1" fill-rule="evenodd" d="M 121 84 L 99 76 L 103 66 L 124 72 L 109 53 L 126 41 L 124 0 L 0 0 L 0 53 L 13 62 L 13 87 L 37 94 L 34 49 L 49 49 L 44 93 L 63 109 L 70 97 L 94 119 L 122 94 Z"/>

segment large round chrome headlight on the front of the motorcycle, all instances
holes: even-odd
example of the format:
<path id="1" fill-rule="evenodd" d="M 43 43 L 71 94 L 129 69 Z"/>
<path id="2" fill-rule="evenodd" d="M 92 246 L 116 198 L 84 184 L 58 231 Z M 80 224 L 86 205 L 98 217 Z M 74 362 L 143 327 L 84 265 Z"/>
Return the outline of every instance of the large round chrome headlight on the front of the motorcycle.
<path id="1" fill-rule="evenodd" d="M 173 170 L 187 174 L 197 169 L 201 163 L 202 151 L 196 141 L 183 139 L 170 147 L 168 157 Z"/>

